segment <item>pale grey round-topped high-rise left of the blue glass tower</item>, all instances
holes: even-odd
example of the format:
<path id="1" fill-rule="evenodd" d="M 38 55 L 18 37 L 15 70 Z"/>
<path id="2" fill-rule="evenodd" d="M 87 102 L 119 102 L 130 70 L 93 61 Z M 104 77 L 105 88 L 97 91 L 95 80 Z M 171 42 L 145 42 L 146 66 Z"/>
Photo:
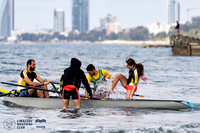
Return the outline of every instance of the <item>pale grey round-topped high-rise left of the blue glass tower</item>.
<path id="1" fill-rule="evenodd" d="M 62 9 L 54 10 L 54 32 L 65 31 L 65 13 Z"/>

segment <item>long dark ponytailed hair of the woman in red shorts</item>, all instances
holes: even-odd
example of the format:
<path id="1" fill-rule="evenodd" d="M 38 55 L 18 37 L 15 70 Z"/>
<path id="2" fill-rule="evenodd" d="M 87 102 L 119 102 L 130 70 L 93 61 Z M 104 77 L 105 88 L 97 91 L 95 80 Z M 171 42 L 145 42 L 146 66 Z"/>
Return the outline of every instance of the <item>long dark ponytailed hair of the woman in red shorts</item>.
<path id="1" fill-rule="evenodd" d="M 126 63 L 130 66 L 135 66 L 140 76 L 144 75 L 144 66 L 142 65 L 142 63 L 136 64 L 132 58 L 126 58 Z"/>

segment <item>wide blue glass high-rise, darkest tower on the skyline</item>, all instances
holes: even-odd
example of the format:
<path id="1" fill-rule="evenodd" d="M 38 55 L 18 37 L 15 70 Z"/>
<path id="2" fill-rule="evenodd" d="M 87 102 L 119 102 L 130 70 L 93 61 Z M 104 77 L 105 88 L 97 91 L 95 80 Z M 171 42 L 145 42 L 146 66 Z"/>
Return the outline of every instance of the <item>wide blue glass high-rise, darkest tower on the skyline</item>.
<path id="1" fill-rule="evenodd" d="M 72 30 L 89 30 L 89 0 L 72 0 Z"/>

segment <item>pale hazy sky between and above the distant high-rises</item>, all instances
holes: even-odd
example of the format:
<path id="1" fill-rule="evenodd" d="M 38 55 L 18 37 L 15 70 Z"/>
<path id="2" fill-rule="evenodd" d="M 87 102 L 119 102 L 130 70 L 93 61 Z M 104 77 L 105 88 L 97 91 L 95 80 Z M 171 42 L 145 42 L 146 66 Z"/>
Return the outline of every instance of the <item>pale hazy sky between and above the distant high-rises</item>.
<path id="1" fill-rule="evenodd" d="M 181 21 L 200 16 L 200 0 L 179 0 Z M 65 12 L 65 27 L 71 25 L 72 0 L 15 0 L 15 29 L 53 29 L 55 8 Z M 99 27 L 100 18 L 116 16 L 123 27 L 147 26 L 155 22 L 167 23 L 167 0 L 90 0 L 89 29 Z"/>

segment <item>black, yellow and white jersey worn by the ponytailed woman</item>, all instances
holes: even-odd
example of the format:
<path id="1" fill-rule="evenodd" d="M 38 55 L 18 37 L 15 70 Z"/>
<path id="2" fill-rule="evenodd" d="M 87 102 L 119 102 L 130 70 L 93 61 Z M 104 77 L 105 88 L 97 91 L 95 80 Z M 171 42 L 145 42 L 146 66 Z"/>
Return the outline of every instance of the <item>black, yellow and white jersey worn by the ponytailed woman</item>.
<path id="1" fill-rule="evenodd" d="M 140 75 L 138 73 L 138 70 L 137 69 L 134 69 L 133 71 L 132 70 L 129 70 L 129 77 L 127 79 L 127 85 L 138 85 L 139 83 L 139 80 L 140 80 Z"/>

